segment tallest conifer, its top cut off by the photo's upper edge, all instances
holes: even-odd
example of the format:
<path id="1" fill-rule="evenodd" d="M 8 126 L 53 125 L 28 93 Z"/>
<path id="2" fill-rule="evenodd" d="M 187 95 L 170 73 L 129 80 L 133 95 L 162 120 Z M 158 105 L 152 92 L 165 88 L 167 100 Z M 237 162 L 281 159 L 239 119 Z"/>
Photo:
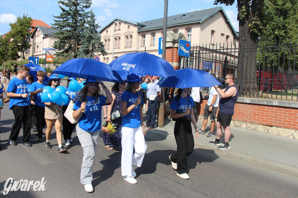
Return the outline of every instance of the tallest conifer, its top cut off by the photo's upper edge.
<path id="1" fill-rule="evenodd" d="M 53 47 L 60 51 L 56 52 L 57 56 L 77 58 L 82 32 L 90 14 L 86 9 L 90 8 L 91 0 L 60 0 L 58 4 L 61 12 L 59 16 L 54 16 L 56 19 L 52 25 L 59 30 L 55 33 L 59 42 Z"/>

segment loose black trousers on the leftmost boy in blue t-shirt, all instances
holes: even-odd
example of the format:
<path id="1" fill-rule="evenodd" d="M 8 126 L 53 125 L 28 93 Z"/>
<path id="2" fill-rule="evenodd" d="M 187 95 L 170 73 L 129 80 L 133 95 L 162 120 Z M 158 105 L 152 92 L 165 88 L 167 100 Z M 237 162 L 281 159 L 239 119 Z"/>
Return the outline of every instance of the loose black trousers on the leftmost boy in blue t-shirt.
<path id="1" fill-rule="evenodd" d="M 16 141 L 18 139 L 18 135 L 21 130 L 21 126 L 23 124 L 23 140 L 22 142 L 30 141 L 30 133 L 31 133 L 31 115 L 29 112 L 28 106 L 13 106 L 13 114 L 15 116 L 15 122 L 13 122 L 13 126 L 11 127 L 11 132 L 9 139 L 12 141 Z"/>

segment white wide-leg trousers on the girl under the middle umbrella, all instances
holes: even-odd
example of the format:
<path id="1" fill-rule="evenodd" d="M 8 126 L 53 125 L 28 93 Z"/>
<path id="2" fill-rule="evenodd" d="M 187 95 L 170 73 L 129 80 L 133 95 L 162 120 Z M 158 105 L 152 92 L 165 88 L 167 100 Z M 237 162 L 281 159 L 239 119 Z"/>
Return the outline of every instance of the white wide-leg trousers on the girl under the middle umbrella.
<path id="1" fill-rule="evenodd" d="M 122 176 L 132 177 L 131 166 L 142 166 L 143 158 L 147 150 L 144 134 L 141 125 L 138 128 L 128 128 L 122 126 L 122 156 L 121 171 Z M 133 154 L 133 150 L 135 153 Z"/>

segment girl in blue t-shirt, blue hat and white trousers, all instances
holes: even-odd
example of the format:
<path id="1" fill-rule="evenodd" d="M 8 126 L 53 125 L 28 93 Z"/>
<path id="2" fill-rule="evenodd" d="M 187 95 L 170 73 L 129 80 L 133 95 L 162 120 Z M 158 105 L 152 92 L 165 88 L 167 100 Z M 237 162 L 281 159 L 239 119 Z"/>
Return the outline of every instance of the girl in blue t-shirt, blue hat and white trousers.
<path id="1" fill-rule="evenodd" d="M 136 90 L 139 89 L 141 79 L 136 76 L 132 80 L 126 81 L 125 92 L 122 94 L 122 156 L 121 170 L 124 180 L 129 183 L 137 183 L 136 172 L 133 165 L 141 167 L 147 149 L 144 135 L 144 123 L 142 107 L 143 96 Z M 135 153 L 133 149 L 135 148 Z"/>

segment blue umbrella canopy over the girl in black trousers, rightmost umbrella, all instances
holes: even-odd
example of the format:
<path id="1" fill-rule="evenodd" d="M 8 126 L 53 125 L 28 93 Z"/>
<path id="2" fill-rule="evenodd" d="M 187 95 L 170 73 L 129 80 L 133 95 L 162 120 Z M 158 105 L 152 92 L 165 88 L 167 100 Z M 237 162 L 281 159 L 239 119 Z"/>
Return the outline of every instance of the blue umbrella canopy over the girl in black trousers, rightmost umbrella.
<path id="1" fill-rule="evenodd" d="M 162 78 L 157 85 L 159 85 L 159 87 L 176 87 L 183 89 L 189 87 L 212 87 L 221 84 L 211 74 L 202 70 L 185 68 L 177 70 L 177 73 L 179 76 Z"/>

